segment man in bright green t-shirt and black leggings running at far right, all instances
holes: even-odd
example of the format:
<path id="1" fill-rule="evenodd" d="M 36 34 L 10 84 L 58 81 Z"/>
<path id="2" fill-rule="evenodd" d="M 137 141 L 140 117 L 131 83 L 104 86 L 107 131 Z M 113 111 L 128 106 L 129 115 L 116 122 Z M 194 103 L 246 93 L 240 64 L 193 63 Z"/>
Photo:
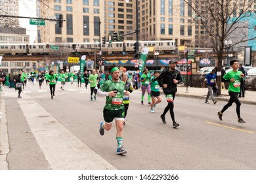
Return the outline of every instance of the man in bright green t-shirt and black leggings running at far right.
<path id="1" fill-rule="evenodd" d="M 223 76 L 222 82 L 229 82 L 228 87 L 228 94 L 230 95 L 230 99 L 226 105 L 224 105 L 223 109 L 217 112 L 219 119 L 223 120 L 223 112 L 228 109 L 232 105 L 232 103 L 236 103 L 236 114 L 238 116 L 238 123 L 244 124 L 245 121 L 240 116 L 240 106 L 241 103 L 238 99 L 238 94 L 240 93 L 240 81 L 241 78 L 244 78 L 244 74 L 241 71 L 238 71 L 239 68 L 239 60 L 232 59 L 230 61 L 230 66 L 232 67 L 233 71 L 226 73 Z"/>

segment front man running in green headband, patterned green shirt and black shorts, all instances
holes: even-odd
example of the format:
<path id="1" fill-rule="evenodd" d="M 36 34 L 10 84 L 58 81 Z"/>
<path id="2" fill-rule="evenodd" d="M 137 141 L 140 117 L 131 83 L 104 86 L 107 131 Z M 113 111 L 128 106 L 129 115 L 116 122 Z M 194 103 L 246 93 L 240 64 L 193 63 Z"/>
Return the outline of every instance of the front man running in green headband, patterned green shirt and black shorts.
<path id="1" fill-rule="evenodd" d="M 112 121 L 116 121 L 116 154 L 125 154 L 127 150 L 123 149 L 123 121 L 125 111 L 123 108 L 123 95 L 129 95 L 129 91 L 125 91 L 125 83 L 119 80 L 119 69 L 116 65 L 112 65 L 108 69 L 112 80 L 107 80 L 100 86 L 98 90 L 99 96 L 106 96 L 106 105 L 103 110 L 105 122 L 100 123 L 100 135 L 104 135 L 104 130 L 109 131 L 112 127 Z"/>

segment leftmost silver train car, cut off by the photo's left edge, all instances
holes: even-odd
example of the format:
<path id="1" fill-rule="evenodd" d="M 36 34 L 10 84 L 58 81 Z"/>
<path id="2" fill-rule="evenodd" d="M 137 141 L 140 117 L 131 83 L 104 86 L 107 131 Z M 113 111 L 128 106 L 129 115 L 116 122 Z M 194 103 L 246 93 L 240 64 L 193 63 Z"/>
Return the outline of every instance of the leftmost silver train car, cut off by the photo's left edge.
<path id="1" fill-rule="evenodd" d="M 18 44 L 0 44 L 0 54 L 2 56 L 15 56 L 23 55 L 28 52 L 28 44 L 18 43 Z"/>

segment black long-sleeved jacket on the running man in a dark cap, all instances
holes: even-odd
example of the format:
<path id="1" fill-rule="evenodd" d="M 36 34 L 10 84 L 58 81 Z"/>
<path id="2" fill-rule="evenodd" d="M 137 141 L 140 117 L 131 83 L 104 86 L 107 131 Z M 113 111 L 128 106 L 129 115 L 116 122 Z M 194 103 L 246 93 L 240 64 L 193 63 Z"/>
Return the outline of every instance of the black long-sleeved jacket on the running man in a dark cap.
<path id="1" fill-rule="evenodd" d="M 181 73 L 178 70 L 169 71 L 169 69 L 165 69 L 157 79 L 161 87 L 163 87 L 163 84 L 167 84 L 167 88 L 163 88 L 165 94 L 177 92 L 177 84 L 173 83 L 173 79 L 178 80 L 178 84 L 182 82 Z"/>

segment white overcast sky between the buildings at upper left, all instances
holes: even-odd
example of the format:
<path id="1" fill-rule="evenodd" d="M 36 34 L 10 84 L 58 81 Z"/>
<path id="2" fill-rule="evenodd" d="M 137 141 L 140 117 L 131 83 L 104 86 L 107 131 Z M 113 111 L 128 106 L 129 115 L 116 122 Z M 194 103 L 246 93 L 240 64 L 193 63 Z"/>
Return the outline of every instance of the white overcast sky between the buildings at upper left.
<path id="1" fill-rule="evenodd" d="M 19 16 L 36 17 L 36 3 L 35 0 L 19 0 Z M 27 29 L 26 34 L 30 35 L 30 43 L 35 41 L 37 36 L 37 25 L 30 25 L 30 19 L 20 18 L 20 25 Z"/>

